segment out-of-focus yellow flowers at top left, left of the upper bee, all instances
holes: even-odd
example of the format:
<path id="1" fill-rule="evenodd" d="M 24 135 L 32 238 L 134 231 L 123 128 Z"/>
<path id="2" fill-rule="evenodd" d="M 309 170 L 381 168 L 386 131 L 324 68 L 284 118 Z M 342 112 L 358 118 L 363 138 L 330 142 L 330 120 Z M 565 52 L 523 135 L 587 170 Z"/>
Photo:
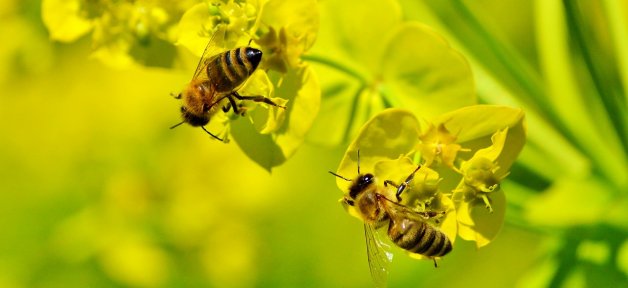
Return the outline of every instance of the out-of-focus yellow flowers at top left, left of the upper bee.
<path id="1" fill-rule="evenodd" d="M 171 67 L 176 27 L 189 1 L 44 0 L 52 40 L 73 42 L 91 32 L 93 57 L 114 67 Z"/>

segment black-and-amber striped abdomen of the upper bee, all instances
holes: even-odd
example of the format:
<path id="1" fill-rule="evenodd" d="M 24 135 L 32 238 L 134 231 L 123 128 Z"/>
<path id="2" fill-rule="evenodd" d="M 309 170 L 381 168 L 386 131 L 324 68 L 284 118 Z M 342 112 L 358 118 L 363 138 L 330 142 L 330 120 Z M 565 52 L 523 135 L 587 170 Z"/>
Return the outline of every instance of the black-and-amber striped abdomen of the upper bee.
<path id="1" fill-rule="evenodd" d="M 255 71 L 262 52 L 251 47 L 240 47 L 223 52 L 207 65 L 207 75 L 219 93 L 238 88 Z"/>

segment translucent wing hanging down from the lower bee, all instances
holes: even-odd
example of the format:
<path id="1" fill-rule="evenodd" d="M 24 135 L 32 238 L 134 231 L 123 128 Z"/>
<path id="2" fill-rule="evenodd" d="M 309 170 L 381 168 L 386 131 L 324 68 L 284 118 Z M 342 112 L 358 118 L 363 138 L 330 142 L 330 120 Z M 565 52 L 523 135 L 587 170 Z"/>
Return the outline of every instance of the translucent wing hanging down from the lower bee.
<path id="1" fill-rule="evenodd" d="M 375 287 L 386 287 L 388 282 L 388 263 L 392 261 L 392 253 L 386 251 L 384 244 L 371 224 L 364 223 L 364 236 L 366 238 L 366 254 L 369 260 L 371 277 Z"/>

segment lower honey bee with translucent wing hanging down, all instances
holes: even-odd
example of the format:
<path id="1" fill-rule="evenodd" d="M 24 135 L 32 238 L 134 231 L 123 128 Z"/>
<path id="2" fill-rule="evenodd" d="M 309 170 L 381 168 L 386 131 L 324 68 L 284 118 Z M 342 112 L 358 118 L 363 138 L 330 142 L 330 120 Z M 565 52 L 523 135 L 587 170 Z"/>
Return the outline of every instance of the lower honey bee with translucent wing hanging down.
<path id="1" fill-rule="evenodd" d="M 358 151 L 358 176 L 354 180 L 347 179 L 334 172 L 332 175 L 351 182 L 349 192 L 342 201 L 356 208 L 364 220 L 364 234 L 371 276 L 377 287 L 386 286 L 388 275 L 387 264 L 392 260 L 392 254 L 385 251 L 386 244 L 378 229 L 388 225 L 388 238 L 398 247 L 412 253 L 431 258 L 436 267 L 436 258 L 447 255 L 452 250 L 452 244 L 447 235 L 437 227 L 426 222 L 430 218 L 445 214 L 442 212 L 419 212 L 397 201 L 388 199 L 383 190 L 392 185 L 397 188 L 397 200 L 401 200 L 401 193 L 414 178 L 414 174 L 421 165 L 400 185 L 386 180 L 384 187 L 375 183 L 373 174 L 360 174 L 360 152 Z"/>

